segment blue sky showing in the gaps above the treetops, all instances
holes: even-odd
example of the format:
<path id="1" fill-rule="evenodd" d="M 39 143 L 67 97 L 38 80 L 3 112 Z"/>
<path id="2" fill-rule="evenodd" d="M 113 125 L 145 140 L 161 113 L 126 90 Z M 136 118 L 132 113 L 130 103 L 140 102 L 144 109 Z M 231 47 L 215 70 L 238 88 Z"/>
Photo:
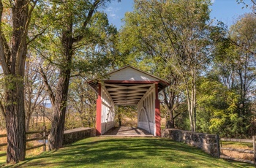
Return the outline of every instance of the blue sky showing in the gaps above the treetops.
<path id="1" fill-rule="evenodd" d="M 244 7 L 244 4 L 238 4 L 236 0 L 211 0 L 213 5 L 211 9 L 211 19 L 221 20 L 227 26 L 235 23 L 239 15 L 251 12 L 250 7 Z M 250 0 L 245 0 L 246 4 L 252 4 Z M 243 8 L 244 7 L 244 8 Z M 112 1 L 105 9 L 108 14 L 109 22 L 118 29 L 124 24 L 121 19 L 125 12 L 132 12 L 133 0 L 121 0 L 121 2 Z"/>

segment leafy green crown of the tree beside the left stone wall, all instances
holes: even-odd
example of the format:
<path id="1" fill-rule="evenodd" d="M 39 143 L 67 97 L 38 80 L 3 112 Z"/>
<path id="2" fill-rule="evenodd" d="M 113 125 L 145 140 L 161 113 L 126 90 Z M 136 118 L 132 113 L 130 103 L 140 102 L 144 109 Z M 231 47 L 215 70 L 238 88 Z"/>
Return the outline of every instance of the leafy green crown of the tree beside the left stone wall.
<path id="1" fill-rule="evenodd" d="M 108 2 L 101 0 L 95 11 Z M 45 58 L 46 65 L 50 63 L 59 69 L 70 68 L 73 75 L 102 75 L 101 72 L 106 71 L 105 67 L 113 64 L 113 57 L 118 57 L 111 53 L 111 44 L 116 41 L 117 30 L 109 25 L 104 12 L 96 11 L 87 20 L 93 5 L 94 1 L 40 1 L 31 22 L 36 29 L 35 33 L 42 33 L 43 36 L 30 44 L 31 50 L 36 50 L 38 56 Z M 83 39 L 74 42 L 72 61 L 67 63 L 61 37 L 70 25 L 72 28 L 69 36 Z"/>

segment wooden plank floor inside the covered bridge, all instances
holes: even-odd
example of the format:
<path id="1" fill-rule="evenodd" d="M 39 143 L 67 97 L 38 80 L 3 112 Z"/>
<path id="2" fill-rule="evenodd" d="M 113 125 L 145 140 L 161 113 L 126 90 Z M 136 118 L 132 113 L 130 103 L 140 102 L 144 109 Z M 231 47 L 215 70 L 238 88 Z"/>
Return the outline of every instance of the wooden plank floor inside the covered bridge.
<path id="1" fill-rule="evenodd" d="M 135 126 L 121 126 L 113 127 L 108 130 L 102 136 L 118 136 L 118 137 L 154 137 L 153 134 L 150 134 L 144 129 L 139 129 Z"/>

